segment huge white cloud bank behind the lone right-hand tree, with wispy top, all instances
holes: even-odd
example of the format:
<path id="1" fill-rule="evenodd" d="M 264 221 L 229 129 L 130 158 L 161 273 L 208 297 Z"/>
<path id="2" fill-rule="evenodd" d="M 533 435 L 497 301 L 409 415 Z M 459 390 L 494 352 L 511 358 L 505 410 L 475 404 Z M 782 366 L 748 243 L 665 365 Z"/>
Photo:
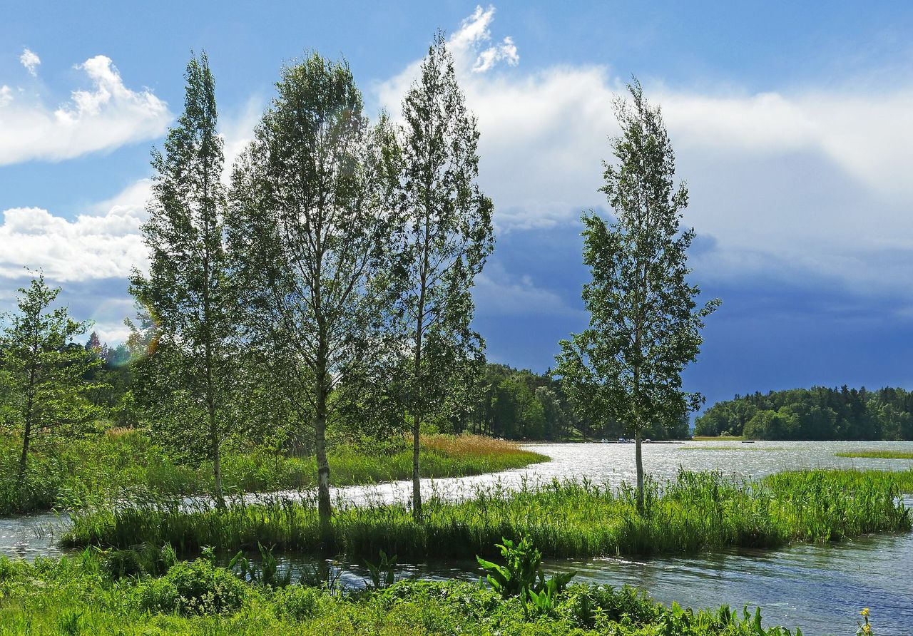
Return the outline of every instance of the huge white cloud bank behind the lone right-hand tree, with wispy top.
<path id="1" fill-rule="evenodd" d="M 597 189 L 627 73 L 586 64 L 474 72 L 519 61 L 516 51 L 488 53 L 493 20 L 493 7 L 477 8 L 448 48 L 477 114 L 479 180 L 494 200 L 498 232 L 565 224 L 604 206 Z M 419 63 L 377 86 L 384 108 L 399 112 Z M 662 106 L 689 186 L 686 221 L 715 240 L 696 261 L 698 276 L 763 270 L 860 290 L 896 289 L 898 281 L 913 289 L 913 252 L 903 256 L 913 247 L 908 79 L 878 92 L 713 94 L 646 79 L 645 94 Z M 894 256 L 878 257 L 886 250 Z"/>

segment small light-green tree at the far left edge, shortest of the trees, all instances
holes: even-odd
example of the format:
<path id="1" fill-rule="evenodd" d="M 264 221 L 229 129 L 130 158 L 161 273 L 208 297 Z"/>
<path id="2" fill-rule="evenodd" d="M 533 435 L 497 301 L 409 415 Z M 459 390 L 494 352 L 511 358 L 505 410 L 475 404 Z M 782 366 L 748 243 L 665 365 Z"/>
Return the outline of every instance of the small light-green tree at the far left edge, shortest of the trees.
<path id="1" fill-rule="evenodd" d="M 70 318 L 67 308 L 50 309 L 59 288 L 47 287 L 39 275 L 19 293 L 18 311 L 7 316 L 0 339 L 0 368 L 7 384 L 8 423 L 22 433 L 17 473 L 21 486 L 29 451 L 39 440 L 52 443 L 91 430 L 99 410 L 87 395 L 97 386 L 84 377 L 101 361 L 73 341 L 88 323 Z"/>

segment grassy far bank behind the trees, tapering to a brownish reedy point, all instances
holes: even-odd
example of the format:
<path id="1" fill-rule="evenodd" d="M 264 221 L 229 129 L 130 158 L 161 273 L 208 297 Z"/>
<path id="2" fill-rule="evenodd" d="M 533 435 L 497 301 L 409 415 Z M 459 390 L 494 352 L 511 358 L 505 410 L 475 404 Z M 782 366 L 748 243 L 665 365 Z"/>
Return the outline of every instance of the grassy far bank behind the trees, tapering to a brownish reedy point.
<path id="1" fill-rule="evenodd" d="M 212 490 L 212 465 L 177 464 L 146 434 L 113 430 L 75 440 L 54 453 L 29 458 L 23 487 L 16 487 L 18 440 L 0 436 L 0 515 L 79 508 L 111 498 L 201 495 Z M 477 435 L 422 438 L 425 477 L 456 477 L 519 468 L 548 459 L 516 443 Z M 412 476 L 412 451 L 404 440 L 384 444 L 337 444 L 330 453 L 334 485 L 374 484 Z M 316 485 L 313 457 L 289 457 L 262 448 L 226 453 L 222 464 L 228 494 L 273 492 Z"/>

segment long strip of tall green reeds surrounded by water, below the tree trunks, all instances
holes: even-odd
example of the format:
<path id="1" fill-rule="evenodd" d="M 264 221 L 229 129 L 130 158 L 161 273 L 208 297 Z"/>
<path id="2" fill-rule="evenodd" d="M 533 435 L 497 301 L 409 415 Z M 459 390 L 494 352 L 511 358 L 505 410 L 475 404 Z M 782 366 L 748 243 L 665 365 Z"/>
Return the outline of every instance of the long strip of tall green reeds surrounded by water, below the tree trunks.
<path id="1" fill-rule="evenodd" d="M 913 471 L 797 471 L 757 481 L 682 472 L 661 487 L 649 485 L 643 515 L 629 487 L 555 481 L 519 492 L 478 488 L 458 503 L 432 497 L 424 523 L 402 504 L 343 503 L 329 537 L 321 537 L 313 502 L 280 500 L 225 511 L 86 511 L 74 516 L 64 540 L 69 546 L 168 543 L 184 554 L 204 546 L 234 552 L 259 541 L 280 550 L 371 558 L 382 549 L 400 558 L 472 558 L 490 553 L 501 537 L 525 536 L 551 557 L 688 553 L 908 531 L 909 512 L 896 503 L 900 492 L 913 492 Z"/>

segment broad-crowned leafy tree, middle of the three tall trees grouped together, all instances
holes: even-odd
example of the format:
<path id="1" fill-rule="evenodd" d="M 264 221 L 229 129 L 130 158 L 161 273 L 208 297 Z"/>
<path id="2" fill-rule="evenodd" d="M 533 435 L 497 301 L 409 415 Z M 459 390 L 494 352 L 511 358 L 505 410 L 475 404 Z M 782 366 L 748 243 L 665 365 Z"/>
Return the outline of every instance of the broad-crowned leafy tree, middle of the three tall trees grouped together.
<path id="1" fill-rule="evenodd" d="M 320 520 L 331 516 L 327 424 L 381 354 L 389 308 L 388 126 L 362 115 L 345 62 L 284 68 L 278 97 L 236 165 L 229 241 L 247 338 L 278 393 L 313 422 Z M 335 391 L 345 379 L 347 391 Z"/>

